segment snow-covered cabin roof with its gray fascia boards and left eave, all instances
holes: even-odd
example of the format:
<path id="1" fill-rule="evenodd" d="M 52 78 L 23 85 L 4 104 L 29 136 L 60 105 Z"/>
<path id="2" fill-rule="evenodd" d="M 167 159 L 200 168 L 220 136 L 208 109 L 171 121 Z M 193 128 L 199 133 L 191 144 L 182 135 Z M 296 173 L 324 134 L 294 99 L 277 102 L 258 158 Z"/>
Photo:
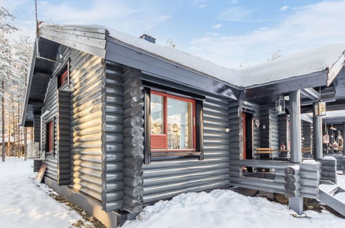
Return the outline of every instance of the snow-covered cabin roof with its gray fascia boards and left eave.
<path id="1" fill-rule="evenodd" d="M 328 86 L 344 68 L 345 59 L 345 44 L 333 44 L 256 66 L 234 69 L 104 26 L 45 23 L 39 25 L 39 38 L 35 45 L 37 48 L 33 53 L 21 123 L 24 126 L 32 126 L 34 113 L 41 111 L 44 99 L 41 95 L 45 94 L 48 81 L 53 75 L 56 64 L 54 59 L 57 59 L 61 46 L 138 68 L 143 75 L 151 73 L 154 77 L 187 84 L 234 100 L 240 99 L 243 94 L 258 97 L 257 93 L 265 93 L 267 97 L 272 93 Z M 286 84 L 286 80 L 291 83 Z M 337 83 L 338 86 L 343 84 Z M 246 89 L 245 93 L 241 93 L 242 89 Z"/>

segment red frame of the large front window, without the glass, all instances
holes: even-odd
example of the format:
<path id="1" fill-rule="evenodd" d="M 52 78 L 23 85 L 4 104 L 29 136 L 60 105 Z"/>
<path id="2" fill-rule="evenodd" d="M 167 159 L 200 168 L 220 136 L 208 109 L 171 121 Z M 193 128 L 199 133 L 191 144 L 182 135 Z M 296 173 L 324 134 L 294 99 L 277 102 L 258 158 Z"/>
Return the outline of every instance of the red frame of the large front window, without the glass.
<path id="1" fill-rule="evenodd" d="M 168 93 L 163 93 L 163 92 L 158 92 L 158 91 L 151 91 L 151 94 L 154 95 L 159 95 L 163 98 L 163 133 L 162 134 L 152 134 L 151 133 L 151 143 L 150 143 L 150 147 L 151 147 L 151 151 L 196 151 L 196 102 L 194 99 L 189 99 L 189 98 L 185 98 L 185 97 L 179 97 L 176 95 L 170 95 Z M 167 129 L 168 129 L 168 121 L 167 121 L 167 99 L 172 98 L 172 99 L 178 99 L 180 101 L 183 102 L 190 102 L 192 103 L 192 126 L 193 126 L 193 148 L 192 149 L 167 149 L 168 148 L 168 134 L 167 134 Z M 150 132 L 151 132 L 151 126 L 149 126 L 150 128 Z M 155 140 L 160 140 L 160 142 L 162 142 L 162 140 L 165 140 L 165 148 L 164 149 L 158 149 L 156 148 L 155 144 L 153 144 L 152 142 L 155 142 Z"/>

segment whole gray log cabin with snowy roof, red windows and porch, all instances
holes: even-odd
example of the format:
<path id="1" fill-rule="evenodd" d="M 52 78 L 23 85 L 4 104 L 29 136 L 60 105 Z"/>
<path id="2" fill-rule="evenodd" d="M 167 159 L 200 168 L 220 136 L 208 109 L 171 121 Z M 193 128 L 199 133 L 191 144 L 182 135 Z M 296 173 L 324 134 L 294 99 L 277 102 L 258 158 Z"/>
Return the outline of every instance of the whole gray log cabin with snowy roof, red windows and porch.
<path id="1" fill-rule="evenodd" d="M 345 109 L 344 44 L 232 70 L 142 38 L 40 27 L 22 125 L 35 128 L 46 151 L 35 160 L 36 171 L 48 166 L 46 184 L 109 227 L 189 191 L 319 197 L 321 162 L 301 162 L 300 112 L 320 99 Z M 321 131 L 313 130 L 321 161 Z M 290 159 L 280 155 L 287 151 Z M 289 185 L 284 169 L 295 164 L 300 181 Z"/>

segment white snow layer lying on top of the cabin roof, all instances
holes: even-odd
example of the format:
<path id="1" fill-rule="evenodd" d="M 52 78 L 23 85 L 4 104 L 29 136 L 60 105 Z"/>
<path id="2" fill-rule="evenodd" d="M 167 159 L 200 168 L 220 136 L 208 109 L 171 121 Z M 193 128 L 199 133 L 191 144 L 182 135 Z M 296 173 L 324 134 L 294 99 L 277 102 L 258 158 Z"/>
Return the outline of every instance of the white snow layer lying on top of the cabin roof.
<path id="1" fill-rule="evenodd" d="M 43 24 L 41 28 L 48 30 L 51 30 L 51 28 L 77 28 L 84 32 L 97 32 L 100 35 L 104 35 L 104 33 L 106 33 L 110 37 L 113 37 L 124 44 L 134 46 L 176 64 L 187 66 L 187 68 L 192 68 L 198 72 L 204 73 L 205 75 L 220 79 L 222 82 L 227 82 L 227 84 L 237 87 L 252 87 L 260 84 L 268 84 L 270 82 L 276 82 L 283 79 L 289 79 L 291 77 L 308 75 L 310 73 L 325 70 L 328 71 L 330 77 L 334 78 L 337 73 L 339 73 L 339 70 L 344 66 L 345 60 L 345 44 L 331 44 L 281 57 L 279 59 L 274 59 L 272 61 L 266 61 L 263 64 L 234 69 L 219 66 L 212 63 L 212 61 L 207 61 L 201 57 L 191 55 L 176 48 L 153 44 L 144 39 L 133 37 L 127 33 L 114 30 L 113 28 L 106 28 L 104 26 L 58 26 Z M 47 35 L 43 32 L 42 37 L 51 39 L 55 33 L 52 34 L 50 31 Z M 75 35 L 78 34 L 77 30 L 70 33 L 74 33 Z M 78 39 L 80 41 L 83 40 L 82 37 L 79 37 Z M 92 45 L 97 48 L 105 48 L 105 43 L 102 43 L 101 40 L 91 37 L 88 38 L 88 41 L 92 41 Z M 100 57 L 104 57 L 104 53 L 102 51 L 98 50 L 97 52 L 102 55 L 99 55 Z M 330 70 L 332 68 L 334 68 L 334 72 Z M 333 78 L 329 78 L 328 84 L 330 84 Z"/>

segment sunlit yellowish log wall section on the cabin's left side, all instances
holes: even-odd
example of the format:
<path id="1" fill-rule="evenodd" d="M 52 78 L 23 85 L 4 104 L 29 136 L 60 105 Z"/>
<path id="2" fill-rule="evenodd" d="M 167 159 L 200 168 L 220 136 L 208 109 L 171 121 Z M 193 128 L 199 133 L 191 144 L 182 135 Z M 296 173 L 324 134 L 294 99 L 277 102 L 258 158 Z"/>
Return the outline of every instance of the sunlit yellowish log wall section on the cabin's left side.
<path id="1" fill-rule="evenodd" d="M 102 59 L 71 50 L 70 75 L 71 184 L 102 201 Z"/>

